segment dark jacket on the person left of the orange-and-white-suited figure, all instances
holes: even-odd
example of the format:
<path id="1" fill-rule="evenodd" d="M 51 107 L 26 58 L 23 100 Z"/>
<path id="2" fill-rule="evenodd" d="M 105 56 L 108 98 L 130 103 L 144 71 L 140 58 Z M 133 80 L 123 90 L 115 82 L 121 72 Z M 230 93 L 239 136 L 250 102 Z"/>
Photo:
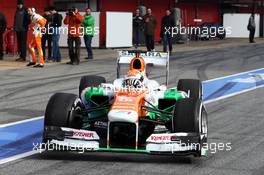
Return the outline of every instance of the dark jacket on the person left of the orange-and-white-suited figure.
<path id="1" fill-rule="evenodd" d="M 14 30 L 28 31 L 28 25 L 31 23 L 30 16 L 27 13 L 26 8 L 23 6 L 22 9 L 17 9 L 14 16 Z"/>

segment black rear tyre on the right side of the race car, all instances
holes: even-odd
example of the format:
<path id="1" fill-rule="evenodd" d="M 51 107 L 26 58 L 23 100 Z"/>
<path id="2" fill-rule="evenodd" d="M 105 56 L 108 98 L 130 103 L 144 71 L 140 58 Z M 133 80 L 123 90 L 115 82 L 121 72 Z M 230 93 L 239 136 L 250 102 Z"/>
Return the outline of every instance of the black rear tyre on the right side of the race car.
<path id="1" fill-rule="evenodd" d="M 202 99 L 202 83 L 200 80 L 195 79 L 180 79 L 177 89 L 184 91 L 188 94 L 190 92 L 190 98 Z"/>

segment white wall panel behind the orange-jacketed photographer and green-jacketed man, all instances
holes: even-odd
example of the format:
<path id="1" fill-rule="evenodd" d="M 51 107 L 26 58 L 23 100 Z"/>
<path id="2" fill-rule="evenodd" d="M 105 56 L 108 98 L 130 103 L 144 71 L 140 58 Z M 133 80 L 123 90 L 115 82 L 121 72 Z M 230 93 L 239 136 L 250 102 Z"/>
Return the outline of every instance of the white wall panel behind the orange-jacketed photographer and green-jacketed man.
<path id="1" fill-rule="evenodd" d="M 62 15 L 63 20 L 64 20 L 66 16 L 66 12 L 60 12 L 60 14 Z M 84 15 L 84 12 L 81 12 L 81 14 Z M 99 28 L 100 27 L 100 12 L 92 12 L 92 15 L 95 18 L 95 27 Z M 62 21 L 62 27 L 67 27 L 66 25 L 64 25 L 63 21 Z M 61 47 L 68 47 L 67 38 L 68 38 L 67 34 L 61 34 L 60 36 L 60 46 Z M 83 37 L 81 37 L 81 41 L 82 41 L 81 46 L 85 47 Z M 92 40 L 92 47 L 99 47 L 99 34 L 94 35 L 93 40 Z"/>

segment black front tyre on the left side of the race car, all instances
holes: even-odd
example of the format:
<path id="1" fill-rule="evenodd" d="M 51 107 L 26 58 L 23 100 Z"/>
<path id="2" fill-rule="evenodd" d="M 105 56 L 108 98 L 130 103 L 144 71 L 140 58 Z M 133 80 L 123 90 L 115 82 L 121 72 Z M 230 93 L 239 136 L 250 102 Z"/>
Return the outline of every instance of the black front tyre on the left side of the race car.
<path id="1" fill-rule="evenodd" d="M 56 93 L 51 96 L 45 111 L 44 126 L 82 127 L 81 100 L 75 94 Z"/>

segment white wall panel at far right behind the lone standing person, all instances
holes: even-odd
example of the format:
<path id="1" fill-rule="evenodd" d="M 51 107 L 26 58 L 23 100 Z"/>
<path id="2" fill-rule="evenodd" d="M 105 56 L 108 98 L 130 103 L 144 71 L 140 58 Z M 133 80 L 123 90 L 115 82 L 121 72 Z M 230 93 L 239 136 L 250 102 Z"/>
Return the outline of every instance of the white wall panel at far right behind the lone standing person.
<path id="1" fill-rule="evenodd" d="M 249 31 L 247 30 L 248 20 L 251 14 L 224 14 L 224 27 L 231 27 L 232 33 L 226 35 L 227 38 L 247 38 L 249 37 Z M 259 14 L 255 14 L 256 33 L 255 37 L 259 37 Z"/>

